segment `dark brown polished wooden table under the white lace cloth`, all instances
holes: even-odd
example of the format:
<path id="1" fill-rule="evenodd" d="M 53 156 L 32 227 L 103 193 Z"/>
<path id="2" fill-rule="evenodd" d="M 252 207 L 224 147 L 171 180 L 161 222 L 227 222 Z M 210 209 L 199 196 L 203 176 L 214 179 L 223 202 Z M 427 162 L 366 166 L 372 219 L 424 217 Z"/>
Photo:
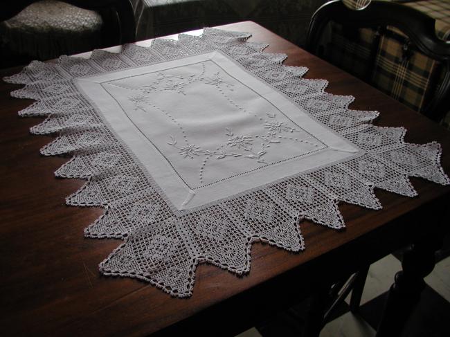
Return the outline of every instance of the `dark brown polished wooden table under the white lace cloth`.
<path id="1" fill-rule="evenodd" d="M 450 172 L 449 131 L 257 24 L 247 21 L 221 28 L 250 32 L 250 41 L 270 45 L 267 51 L 287 53 L 285 64 L 309 68 L 306 78 L 329 80 L 328 92 L 354 95 L 352 109 L 380 111 L 375 125 L 404 126 L 406 141 L 411 143 L 438 141 L 444 170 Z M 19 70 L 6 69 L 0 75 Z M 53 138 L 28 133 L 40 119 L 17 116 L 19 109 L 32 102 L 10 97 L 10 91 L 20 87 L 0 84 L 3 336 L 144 336 L 190 330 L 198 336 L 211 333 L 210 326 L 215 326 L 215 335 L 235 334 L 298 302 L 317 284 L 339 280 L 408 243 L 420 241 L 411 255 L 413 264 L 406 261 L 399 277 L 403 282 L 396 284 L 394 293 L 412 298 L 410 293 L 420 289 L 422 275 L 433 268 L 432 253 L 437 247 L 433 241 L 441 228 L 439 221 L 431 219 L 448 214 L 445 203 L 450 188 L 411 179 L 419 197 L 376 190 L 383 210 L 342 203 L 347 228 L 340 232 L 304 221 L 303 253 L 255 244 L 251 271 L 243 277 L 215 266 L 199 266 L 189 299 L 171 298 L 138 280 L 103 277 L 98 263 L 120 240 L 83 237 L 83 228 L 102 209 L 65 205 L 64 198 L 84 181 L 55 179 L 53 172 L 68 158 L 39 155 L 39 148 Z"/>

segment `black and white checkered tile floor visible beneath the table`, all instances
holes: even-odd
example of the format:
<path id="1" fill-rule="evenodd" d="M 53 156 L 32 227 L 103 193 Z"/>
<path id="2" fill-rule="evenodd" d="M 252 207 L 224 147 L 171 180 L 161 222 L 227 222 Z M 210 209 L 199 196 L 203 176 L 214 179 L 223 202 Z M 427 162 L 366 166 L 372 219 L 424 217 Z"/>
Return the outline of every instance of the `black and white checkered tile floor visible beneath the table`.
<path id="1" fill-rule="evenodd" d="M 350 312 L 348 303 L 336 310 L 336 318 L 321 331 L 320 337 L 375 337 L 379 313 L 394 275 L 401 270 L 400 255 L 388 255 L 370 266 L 358 315 Z M 404 329 L 403 337 L 449 336 L 450 322 L 450 236 L 436 253 L 437 264 L 425 278 L 426 289 Z M 264 325 L 253 327 L 236 337 L 301 336 L 305 305 L 290 308 Z"/>

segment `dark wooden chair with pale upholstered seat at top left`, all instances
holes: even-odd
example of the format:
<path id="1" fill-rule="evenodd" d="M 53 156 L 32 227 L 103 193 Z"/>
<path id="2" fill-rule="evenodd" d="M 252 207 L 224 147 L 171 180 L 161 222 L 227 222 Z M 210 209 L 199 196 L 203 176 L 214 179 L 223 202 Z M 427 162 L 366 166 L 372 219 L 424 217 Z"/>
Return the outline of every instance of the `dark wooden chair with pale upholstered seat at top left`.
<path id="1" fill-rule="evenodd" d="M 8 1 L 0 21 L 6 64 L 134 42 L 136 33 L 129 0 Z"/>

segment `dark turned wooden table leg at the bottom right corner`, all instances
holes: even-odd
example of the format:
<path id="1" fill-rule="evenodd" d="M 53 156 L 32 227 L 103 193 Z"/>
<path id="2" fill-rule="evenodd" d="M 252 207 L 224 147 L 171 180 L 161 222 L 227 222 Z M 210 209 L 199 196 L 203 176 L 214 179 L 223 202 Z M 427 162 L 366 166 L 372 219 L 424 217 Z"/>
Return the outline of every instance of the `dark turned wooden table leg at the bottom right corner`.
<path id="1" fill-rule="evenodd" d="M 433 271 L 435 251 L 440 246 L 442 239 L 427 237 L 411 245 L 404 253 L 403 270 L 395 274 L 395 282 L 390 286 L 377 337 L 401 336 L 404 325 L 425 288 L 424 277 Z"/>

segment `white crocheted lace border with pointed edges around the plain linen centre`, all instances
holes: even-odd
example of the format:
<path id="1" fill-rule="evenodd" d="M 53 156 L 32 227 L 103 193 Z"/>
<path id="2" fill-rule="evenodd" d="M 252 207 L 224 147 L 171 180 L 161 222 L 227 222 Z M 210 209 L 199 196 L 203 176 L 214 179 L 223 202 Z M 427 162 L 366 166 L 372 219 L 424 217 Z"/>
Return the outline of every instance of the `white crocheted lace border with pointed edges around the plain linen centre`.
<path id="1" fill-rule="evenodd" d="M 267 45 L 246 42 L 249 36 L 206 28 L 200 37 L 179 35 L 179 41 L 155 39 L 148 48 L 128 44 L 120 53 L 94 51 L 89 60 L 63 56 L 58 64 L 32 62 L 21 73 L 5 78 L 6 82 L 26 84 L 23 89 L 13 91 L 12 96 L 36 100 L 19 111 L 20 116 L 46 116 L 30 129 L 31 133 L 57 135 L 41 149 L 42 154 L 71 154 L 70 161 L 55 175 L 87 179 L 80 190 L 66 198 L 66 203 L 105 208 L 105 213 L 85 229 L 84 235 L 124 239 L 100 263 L 101 273 L 136 277 L 171 295 L 188 297 L 192 295 L 195 268 L 200 263 L 214 264 L 237 274 L 248 273 L 253 242 L 267 242 L 298 252 L 305 248 L 300 233 L 302 219 L 343 228 L 338 208 L 341 201 L 378 210 L 381 204 L 374 188 L 414 197 L 417 192 L 409 176 L 442 185 L 450 183 L 440 165 L 438 143 L 405 143 L 404 128 L 372 125 L 377 111 L 348 109 L 354 100 L 352 96 L 326 93 L 327 81 L 302 78 L 306 68 L 284 66 L 285 54 L 263 53 Z M 194 210 L 174 208 L 152 176 L 78 90 L 74 80 L 217 50 L 361 149 L 361 155 L 278 179 Z M 204 79 L 211 85 L 220 80 L 218 76 Z M 164 81 L 161 77 L 160 82 Z M 183 86 L 177 84 L 169 89 L 179 91 Z M 137 108 L 144 107 L 142 100 L 133 99 Z M 262 127 L 287 134 L 295 131 L 275 117 L 268 116 Z M 251 141 L 249 136 L 233 134 L 232 129 L 224 132 L 222 136 L 228 137 L 227 145 L 234 149 L 234 155 L 205 153 L 207 149 L 188 147 L 170 136 L 167 141 L 185 158 L 202 153 L 222 160 L 222 156 L 244 153 Z M 269 143 L 270 140 L 273 138 L 267 138 Z M 253 159 L 264 163 L 262 152 L 255 153 Z"/>

